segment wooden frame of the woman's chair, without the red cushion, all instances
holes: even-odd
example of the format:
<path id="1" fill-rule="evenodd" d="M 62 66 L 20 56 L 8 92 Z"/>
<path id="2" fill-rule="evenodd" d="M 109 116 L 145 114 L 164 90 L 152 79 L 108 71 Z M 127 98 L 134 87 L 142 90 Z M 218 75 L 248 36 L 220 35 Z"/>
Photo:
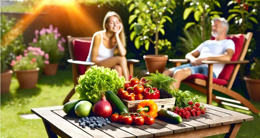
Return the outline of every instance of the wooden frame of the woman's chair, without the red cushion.
<path id="1" fill-rule="evenodd" d="M 63 101 L 63 104 L 69 102 L 69 99 L 74 95 L 75 93 L 75 86 L 78 84 L 78 77 L 79 77 L 79 70 L 77 65 L 85 65 L 86 70 L 90 68 L 91 65 L 95 65 L 93 62 L 86 62 L 86 61 L 77 61 L 75 54 L 74 54 L 74 46 L 73 46 L 73 40 L 74 39 L 80 39 L 80 40 L 92 40 L 92 37 L 71 37 L 70 35 L 67 36 L 67 43 L 69 47 L 69 55 L 70 59 L 68 60 L 69 63 L 72 64 L 72 78 L 74 82 L 74 87 L 69 92 L 69 94 L 66 96 L 66 98 Z M 134 77 L 134 63 L 139 63 L 140 60 L 136 59 L 127 59 L 127 65 L 129 69 L 129 74 Z"/>

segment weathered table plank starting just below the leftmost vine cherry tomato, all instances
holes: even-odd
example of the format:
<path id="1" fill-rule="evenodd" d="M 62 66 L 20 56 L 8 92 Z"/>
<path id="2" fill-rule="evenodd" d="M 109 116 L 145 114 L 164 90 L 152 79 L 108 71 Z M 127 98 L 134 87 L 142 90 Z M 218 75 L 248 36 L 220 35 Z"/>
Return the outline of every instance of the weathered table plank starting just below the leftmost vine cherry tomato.
<path id="1" fill-rule="evenodd" d="M 110 125 L 115 126 L 116 128 L 122 129 L 124 131 L 127 131 L 127 132 L 135 135 L 137 138 L 153 137 L 152 133 L 149 133 L 142 129 L 136 128 L 134 126 L 130 126 L 130 125 L 126 125 L 126 124 L 119 124 L 119 123 L 114 123 L 114 122 L 111 122 Z"/>

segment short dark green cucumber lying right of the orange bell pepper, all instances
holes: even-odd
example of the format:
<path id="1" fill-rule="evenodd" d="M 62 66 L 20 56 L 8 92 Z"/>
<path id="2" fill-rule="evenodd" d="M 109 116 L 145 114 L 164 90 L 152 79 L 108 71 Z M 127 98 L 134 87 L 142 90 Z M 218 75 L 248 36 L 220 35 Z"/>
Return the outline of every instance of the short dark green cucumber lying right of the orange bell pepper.
<path id="1" fill-rule="evenodd" d="M 168 123 L 179 124 L 182 122 L 181 116 L 179 116 L 176 113 L 173 113 L 172 111 L 160 110 L 157 112 L 157 114 L 158 114 L 157 116 L 158 119 Z"/>

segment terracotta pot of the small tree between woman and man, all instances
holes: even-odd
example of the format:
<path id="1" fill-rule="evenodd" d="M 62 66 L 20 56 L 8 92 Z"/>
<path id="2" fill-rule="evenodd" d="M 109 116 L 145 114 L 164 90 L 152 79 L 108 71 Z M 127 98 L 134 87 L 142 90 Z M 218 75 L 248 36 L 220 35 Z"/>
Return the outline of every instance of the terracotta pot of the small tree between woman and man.
<path id="1" fill-rule="evenodd" d="M 163 73 L 168 61 L 167 55 L 144 55 L 143 57 L 149 73 L 155 73 L 156 70 L 158 70 L 160 73 Z"/>

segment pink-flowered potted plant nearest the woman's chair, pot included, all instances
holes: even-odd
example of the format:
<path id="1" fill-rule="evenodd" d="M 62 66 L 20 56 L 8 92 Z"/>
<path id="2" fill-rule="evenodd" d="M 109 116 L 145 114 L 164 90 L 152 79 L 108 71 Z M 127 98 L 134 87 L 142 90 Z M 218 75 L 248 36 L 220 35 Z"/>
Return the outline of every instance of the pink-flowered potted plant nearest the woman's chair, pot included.
<path id="1" fill-rule="evenodd" d="M 58 28 L 53 29 L 53 25 L 49 28 L 42 28 L 42 30 L 35 30 L 35 38 L 33 38 L 30 46 L 40 47 L 45 53 L 45 58 L 49 63 L 45 64 L 43 72 L 45 75 L 55 75 L 58 69 L 58 63 L 64 56 L 64 44 L 66 40 L 61 38 L 58 33 Z"/>

